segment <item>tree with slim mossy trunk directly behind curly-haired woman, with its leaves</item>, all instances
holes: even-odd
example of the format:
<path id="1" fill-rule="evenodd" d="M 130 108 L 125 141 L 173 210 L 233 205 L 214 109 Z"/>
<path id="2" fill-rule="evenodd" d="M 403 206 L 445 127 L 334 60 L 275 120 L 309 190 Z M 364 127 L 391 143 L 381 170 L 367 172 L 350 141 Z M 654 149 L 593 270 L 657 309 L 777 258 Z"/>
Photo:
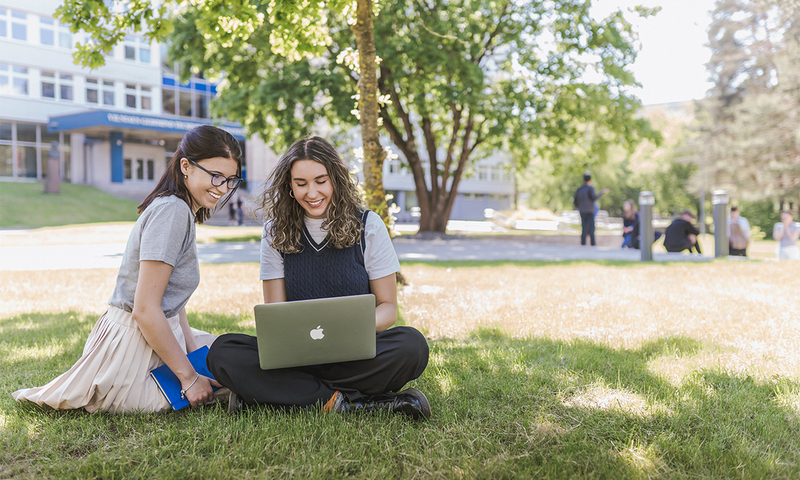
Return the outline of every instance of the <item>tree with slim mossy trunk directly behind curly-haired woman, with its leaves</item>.
<path id="1" fill-rule="evenodd" d="M 187 17 L 194 22 L 192 44 L 209 56 L 217 54 L 220 50 L 232 55 L 246 56 L 256 47 L 266 48 L 286 61 L 298 60 L 304 56 L 322 55 L 330 44 L 327 15 L 350 18 L 353 10 L 355 17 L 350 23 L 358 51 L 360 98 L 358 117 L 366 166 L 365 192 L 368 204 L 388 224 L 389 216 L 382 178 L 386 152 L 380 144 L 378 125 L 372 0 L 355 0 L 355 3 L 353 0 L 325 2 L 178 0 L 158 5 L 149 0 L 125 2 L 65 0 L 57 14 L 62 23 L 69 25 L 73 32 L 82 30 L 89 34 L 90 41 L 79 44 L 74 57 L 76 63 L 96 68 L 105 63 L 104 53 L 110 51 L 128 33 L 142 32 L 151 40 L 164 41 L 173 32 L 173 20 L 177 18 L 185 22 Z M 197 40 L 201 40 L 199 46 Z M 251 40 L 258 43 L 253 44 Z M 177 51 L 181 51 L 182 48 L 182 45 L 176 46 Z M 188 77 L 193 70 L 195 69 L 184 68 L 182 74 Z M 212 77 L 225 72 L 222 64 L 210 65 L 207 71 Z M 254 132 L 253 122 L 247 122 L 246 116 L 233 114 L 229 115 L 229 118 L 243 121 L 245 127 Z"/>

